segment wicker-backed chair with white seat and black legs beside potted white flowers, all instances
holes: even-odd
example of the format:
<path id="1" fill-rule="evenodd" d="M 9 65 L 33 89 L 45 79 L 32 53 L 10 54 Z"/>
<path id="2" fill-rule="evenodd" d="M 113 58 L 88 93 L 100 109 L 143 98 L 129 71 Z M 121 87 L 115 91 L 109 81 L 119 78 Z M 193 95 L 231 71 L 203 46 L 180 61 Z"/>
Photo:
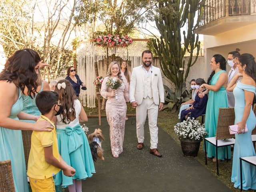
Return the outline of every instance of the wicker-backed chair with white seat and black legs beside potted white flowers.
<path id="1" fill-rule="evenodd" d="M 234 108 L 219 108 L 218 123 L 216 128 L 216 137 L 204 138 L 205 164 L 207 165 L 206 142 L 216 146 L 216 166 L 219 174 L 218 148 L 226 146 L 226 159 L 228 161 L 228 146 L 234 145 L 235 135 L 230 135 L 228 126 L 234 125 L 235 112 Z"/>

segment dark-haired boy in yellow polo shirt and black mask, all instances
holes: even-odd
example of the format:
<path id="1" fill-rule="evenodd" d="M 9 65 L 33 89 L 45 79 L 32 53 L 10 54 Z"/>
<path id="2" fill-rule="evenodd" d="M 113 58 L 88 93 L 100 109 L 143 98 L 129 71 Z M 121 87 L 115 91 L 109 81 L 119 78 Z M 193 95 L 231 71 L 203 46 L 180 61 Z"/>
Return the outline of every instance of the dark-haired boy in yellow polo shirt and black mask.
<path id="1" fill-rule="evenodd" d="M 52 91 L 42 91 L 36 96 L 36 106 L 42 114 L 38 121 L 50 122 L 53 130 L 32 133 L 27 172 L 32 192 L 55 192 L 53 176 L 60 169 L 66 176 L 74 176 L 76 172 L 64 162 L 58 152 L 56 130 L 51 121 L 62 110 L 58 100 L 58 94 Z"/>

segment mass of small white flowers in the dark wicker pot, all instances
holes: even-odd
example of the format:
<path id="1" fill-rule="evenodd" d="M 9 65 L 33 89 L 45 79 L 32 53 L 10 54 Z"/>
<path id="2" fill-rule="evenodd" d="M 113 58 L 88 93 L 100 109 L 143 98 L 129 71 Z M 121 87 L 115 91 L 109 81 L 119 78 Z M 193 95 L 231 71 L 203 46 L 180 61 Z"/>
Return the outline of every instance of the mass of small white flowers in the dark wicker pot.
<path id="1" fill-rule="evenodd" d="M 204 124 L 201 125 L 198 120 L 190 117 L 186 121 L 177 123 L 174 126 L 174 132 L 180 137 L 180 140 L 201 140 L 208 134 Z"/>

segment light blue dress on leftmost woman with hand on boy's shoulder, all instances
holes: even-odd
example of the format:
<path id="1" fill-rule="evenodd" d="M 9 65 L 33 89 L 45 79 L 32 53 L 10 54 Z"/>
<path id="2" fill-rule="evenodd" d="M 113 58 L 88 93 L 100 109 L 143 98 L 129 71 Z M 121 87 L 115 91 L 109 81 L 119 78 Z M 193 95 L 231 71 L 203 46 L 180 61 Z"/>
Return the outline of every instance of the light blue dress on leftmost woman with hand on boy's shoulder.
<path id="1" fill-rule="evenodd" d="M 19 98 L 12 106 L 10 118 L 19 120 L 17 115 L 22 110 L 22 97 L 19 89 Z M 11 130 L 0 127 L 0 160 L 12 161 L 12 173 L 16 192 L 28 192 L 28 180 L 21 130 Z"/>

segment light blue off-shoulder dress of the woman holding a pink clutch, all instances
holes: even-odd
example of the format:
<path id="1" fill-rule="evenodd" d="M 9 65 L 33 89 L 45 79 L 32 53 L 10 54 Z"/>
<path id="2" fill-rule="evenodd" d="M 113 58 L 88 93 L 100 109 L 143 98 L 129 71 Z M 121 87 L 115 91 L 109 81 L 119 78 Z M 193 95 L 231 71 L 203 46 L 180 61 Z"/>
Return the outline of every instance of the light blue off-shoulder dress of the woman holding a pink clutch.
<path id="1" fill-rule="evenodd" d="M 242 120 L 244 114 L 244 90 L 253 92 L 256 94 L 256 87 L 246 85 L 241 82 L 236 84 L 234 88 L 235 97 L 235 123 Z M 256 125 L 256 117 L 252 108 L 246 121 L 248 132 L 244 134 L 235 134 L 236 141 L 234 145 L 233 164 L 232 164 L 232 176 L 231 182 L 234 183 L 235 188 L 241 188 L 240 183 L 240 157 L 256 156 L 254 146 L 252 144 L 252 130 Z M 246 162 L 242 162 L 242 185 L 243 190 L 254 189 L 256 190 L 256 167 Z"/>

